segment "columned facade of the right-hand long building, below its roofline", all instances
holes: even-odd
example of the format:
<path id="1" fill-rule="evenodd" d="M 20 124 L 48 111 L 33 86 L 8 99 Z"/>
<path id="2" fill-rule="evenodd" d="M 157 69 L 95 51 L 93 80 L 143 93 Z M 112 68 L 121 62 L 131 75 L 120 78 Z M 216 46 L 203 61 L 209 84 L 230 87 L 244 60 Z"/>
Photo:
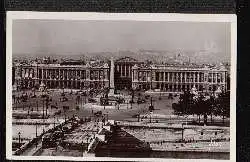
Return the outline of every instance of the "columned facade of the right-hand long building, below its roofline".
<path id="1" fill-rule="evenodd" d="M 138 70 L 132 71 L 132 87 L 143 89 L 161 89 L 164 91 L 178 92 L 191 89 L 193 86 L 198 91 L 213 91 L 218 86 L 226 88 L 225 71 L 160 71 Z"/>

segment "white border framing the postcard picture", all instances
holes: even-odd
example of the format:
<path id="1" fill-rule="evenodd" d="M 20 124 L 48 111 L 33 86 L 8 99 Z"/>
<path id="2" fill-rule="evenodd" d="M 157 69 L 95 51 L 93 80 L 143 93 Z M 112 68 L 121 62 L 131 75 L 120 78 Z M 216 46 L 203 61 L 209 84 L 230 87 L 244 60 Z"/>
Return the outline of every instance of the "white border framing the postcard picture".
<path id="1" fill-rule="evenodd" d="M 95 13 L 95 12 L 32 12 L 8 11 L 6 25 L 6 158 L 9 160 L 73 160 L 73 161 L 166 161 L 162 158 L 108 158 L 12 155 L 12 21 L 17 19 L 46 20 L 123 20 L 123 21 L 185 21 L 231 23 L 231 92 L 230 92 L 230 161 L 236 161 L 236 58 L 237 19 L 234 14 L 178 13 Z M 168 161 L 228 161 L 213 159 L 167 159 Z"/>

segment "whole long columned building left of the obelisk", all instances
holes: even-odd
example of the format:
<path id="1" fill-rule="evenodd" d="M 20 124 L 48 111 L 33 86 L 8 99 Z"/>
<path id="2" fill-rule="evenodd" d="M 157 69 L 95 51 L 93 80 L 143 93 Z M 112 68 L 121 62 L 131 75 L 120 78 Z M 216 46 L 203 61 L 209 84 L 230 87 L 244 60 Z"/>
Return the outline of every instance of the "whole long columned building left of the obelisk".
<path id="1" fill-rule="evenodd" d="M 109 65 L 103 64 L 15 64 L 14 83 L 18 88 L 87 89 L 109 87 Z"/>

